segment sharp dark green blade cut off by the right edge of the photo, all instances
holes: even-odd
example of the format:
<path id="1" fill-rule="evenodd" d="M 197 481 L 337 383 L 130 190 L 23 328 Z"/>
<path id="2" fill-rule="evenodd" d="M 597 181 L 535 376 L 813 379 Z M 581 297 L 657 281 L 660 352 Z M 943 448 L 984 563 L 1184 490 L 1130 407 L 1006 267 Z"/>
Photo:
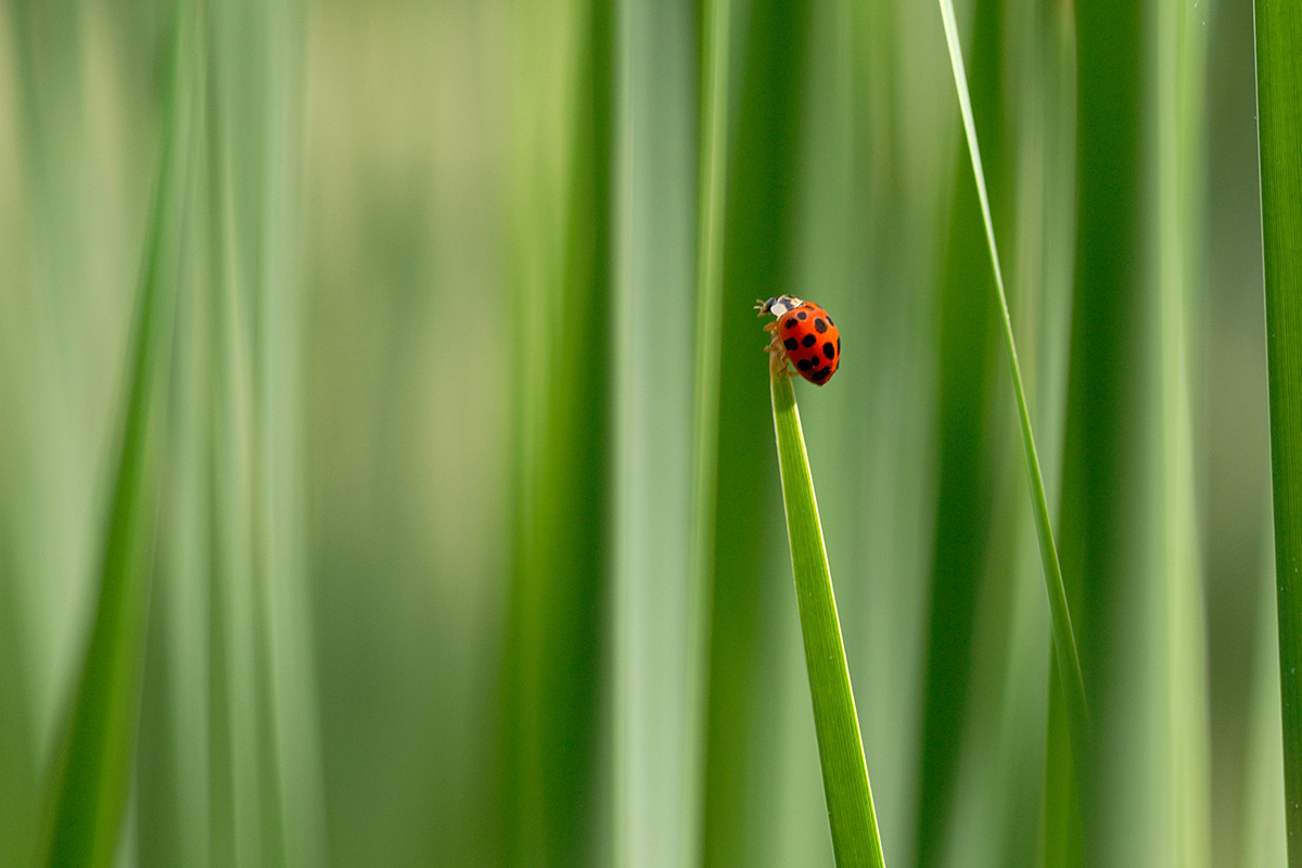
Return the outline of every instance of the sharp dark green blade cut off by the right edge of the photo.
<path id="1" fill-rule="evenodd" d="M 1284 804 L 1289 865 L 1302 865 L 1302 7 L 1255 5 Z"/>

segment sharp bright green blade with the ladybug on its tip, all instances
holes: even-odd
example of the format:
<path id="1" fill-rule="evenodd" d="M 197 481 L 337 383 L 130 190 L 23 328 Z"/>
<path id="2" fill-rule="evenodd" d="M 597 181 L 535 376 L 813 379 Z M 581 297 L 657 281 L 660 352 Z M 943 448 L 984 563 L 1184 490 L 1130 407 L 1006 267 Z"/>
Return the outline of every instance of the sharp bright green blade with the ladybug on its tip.
<path id="1" fill-rule="evenodd" d="M 810 476 L 805 435 L 796 409 L 796 392 L 785 372 L 771 372 L 773 429 L 783 475 L 786 535 L 792 547 L 792 573 L 799 608 L 805 664 L 814 700 L 823 791 L 836 864 L 884 865 L 872 790 L 863 760 L 859 718 L 854 711 L 850 670 L 845 662 L 841 623 L 832 595 L 832 574 L 823 548 L 814 480 Z"/>

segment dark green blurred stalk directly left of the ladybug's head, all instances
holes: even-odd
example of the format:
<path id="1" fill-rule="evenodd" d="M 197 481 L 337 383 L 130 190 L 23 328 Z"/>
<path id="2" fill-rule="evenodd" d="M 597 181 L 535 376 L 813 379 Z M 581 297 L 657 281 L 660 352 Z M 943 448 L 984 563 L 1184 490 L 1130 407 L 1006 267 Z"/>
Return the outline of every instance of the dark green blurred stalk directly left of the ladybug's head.
<path id="1" fill-rule="evenodd" d="M 771 459 L 772 416 L 754 363 L 764 333 L 756 297 L 792 289 L 801 95 L 810 7 L 779 0 L 732 8 L 736 77 L 727 128 L 727 215 L 721 221 L 717 495 L 710 608 L 710 692 L 703 861 L 711 867 L 775 864 L 777 796 L 772 740 L 781 701 L 769 661 L 786 645 L 771 622 L 781 613 L 773 558 L 775 480 L 756 474 Z M 745 13 L 745 16 L 743 16 Z M 745 38 L 742 38 L 745 34 Z M 724 39 L 724 34 L 719 34 Z M 780 587 L 780 586 L 779 586 Z M 793 631 L 794 632 L 794 631 Z"/>

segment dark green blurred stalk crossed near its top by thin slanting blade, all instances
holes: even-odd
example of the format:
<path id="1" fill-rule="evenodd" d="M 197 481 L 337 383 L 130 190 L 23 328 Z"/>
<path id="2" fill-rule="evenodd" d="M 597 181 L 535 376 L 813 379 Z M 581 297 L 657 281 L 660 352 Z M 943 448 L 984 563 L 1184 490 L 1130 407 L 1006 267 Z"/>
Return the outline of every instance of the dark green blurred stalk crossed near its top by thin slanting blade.
<path id="1" fill-rule="evenodd" d="M 935 31 L 935 12 L 928 21 Z M 1000 52 L 1004 38 L 1004 8 L 997 0 L 971 5 L 971 72 L 967 86 L 982 105 L 982 133 L 996 157 L 990 167 L 990 183 L 1010 202 L 1009 169 L 1013 160 L 1004 133 L 1005 88 L 1000 79 Z M 939 40 L 937 40 L 939 42 Z M 945 57 L 937 57 L 940 92 L 953 88 L 953 72 Z M 947 81 L 948 79 L 948 81 Z M 950 117 L 953 117 L 950 115 Z M 954 125 L 958 128 L 958 125 Z M 956 130 L 957 131 L 957 130 Z M 1001 606 L 983 605 L 1006 595 L 1005 576 L 1010 570 L 992 567 L 1006 560 L 1000 550 L 1004 535 L 992 509 L 995 488 L 996 433 L 1003 428 L 995 410 L 999 384 L 996 288 L 991 271 L 980 263 L 988 259 L 980 200 L 971 183 L 971 167 L 962 144 L 953 142 L 945 160 L 950 177 L 948 212 L 944 219 L 944 252 L 935 295 L 935 332 L 931 346 L 936 355 L 935 457 L 936 489 L 932 495 L 935 518 L 931 527 L 931 563 L 927 603 L 927 669 L 923 675 L 922 756 L 917 770 L 917 864 L 937 868 L 945 852 L 973 848 L 966 829 L 988 838 L 990 820 L 979 819 L 993 799 L 961 803 L 965 780 L 982 780 L 978 770 L 963 774 L 973 759 L 984 752 L 980 744 L 988 724 L 982 720 L 982 694 L 986 678 L 996 666 L 975 658 L 990 631 L 988 614 Z M 1016 472 L 1016 471 L 1014 471 Z M 1014 476 L 1016 479 L 1016 476 Z M 1005 632 L 1004 627 L 996 627 Z M 986 790 L 983 786 L 982 790 Z M 962 815 L 962 816 L 960 816 Z M 975 815 L 975 816 L 974 816 Z M 960 829 L 958 826 L 963 826 Z M 945 832 L 937 832 L 937 826 Z"/>

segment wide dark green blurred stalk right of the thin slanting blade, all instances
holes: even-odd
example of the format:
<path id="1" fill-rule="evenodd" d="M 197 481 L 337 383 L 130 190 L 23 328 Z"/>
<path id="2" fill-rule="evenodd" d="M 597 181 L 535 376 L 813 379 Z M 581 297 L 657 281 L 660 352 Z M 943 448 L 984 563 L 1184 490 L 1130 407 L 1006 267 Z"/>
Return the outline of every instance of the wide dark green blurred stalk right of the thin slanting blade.
<path id="1" fill-rule="evenodd" d="M 1134 521 L 1147 505 L 1147 478 L 1134 472 L 1144 458 L 1137 454 L 1133 432 L 1144 428 L 1133 372 L 1142 364 L 1135 358 L 1142 346 L 1139 267 L 1148 250 L 1142 144 L 1150 27 L 1146 10 L 1133 4 L 1075 4 L 1069 14 L 1075 21 L 1075 262 L 1057 544 L 1073 614 L 1083 621 L 1077 642 L 1098 713 L 1091 740 L 1109 750 L 1096 757 L 1107 761 L 1073 761 L 1078 789 L 1065 799 L 1079 804 L 1086 864 L 1107 858 L 1151 864 L 1139 839 L 1154 830 L 1141 820 L 1151 809 L 1143 799 L 1154 753 L 1122 731 L 1148 733 L 1152 726 L 1137 730 L 1128 726 L 1129 714 L 1109 713 L 1147 712 L 1156 692 L 1137 686 L 1138 668 L 1131 664 L 1147 638 L 1147 623 L 1131 616 L 1142 608 L 1143 586 L 1134 575 L 1146 574 L 1137 552 L 1148 532 Z M 1120 643 L 1126 643 L 1124 652 Z M 1051 743 L 1069 742 L 1074 752 L 1075 725 L 1066 691 L 1060 695 L 1057 720 L 1072 733 L 1051 734 Z M 1052 701 L 1051 720 L 1059 709 L 1059 700 Z M 1143 787 L 1134 785 L 1137 769 L 1144 772 Z"/>

